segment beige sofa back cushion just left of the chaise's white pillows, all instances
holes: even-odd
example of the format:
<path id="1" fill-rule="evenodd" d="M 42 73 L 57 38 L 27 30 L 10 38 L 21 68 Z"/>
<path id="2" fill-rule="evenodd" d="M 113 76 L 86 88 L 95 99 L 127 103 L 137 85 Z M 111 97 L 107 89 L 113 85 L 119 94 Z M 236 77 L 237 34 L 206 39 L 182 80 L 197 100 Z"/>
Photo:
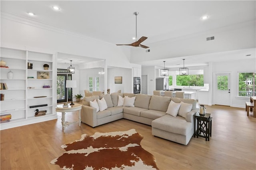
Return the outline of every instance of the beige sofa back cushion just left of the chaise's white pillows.
<path id="1" fill-rule="evenodd" d="M 170 97 L 153 95 L 151 96 L 148 109 L 166 112 L 170 101 Z"/>

